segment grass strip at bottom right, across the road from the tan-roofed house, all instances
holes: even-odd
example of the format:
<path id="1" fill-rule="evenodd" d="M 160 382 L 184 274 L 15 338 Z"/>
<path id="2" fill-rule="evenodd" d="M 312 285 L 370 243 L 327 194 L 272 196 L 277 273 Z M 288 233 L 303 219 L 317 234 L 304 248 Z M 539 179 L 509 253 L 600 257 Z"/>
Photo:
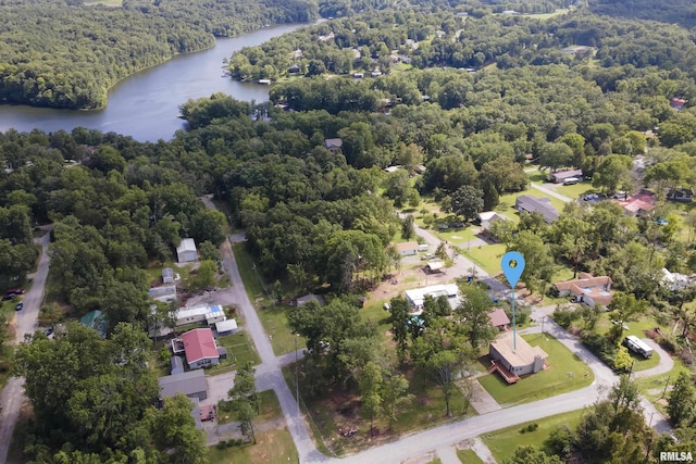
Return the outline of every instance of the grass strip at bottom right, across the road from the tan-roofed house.
<path id="1" fill-rule="evenodd" d="M 544 417 L 538 421 L 513 425 L 512 427 L 502 428 L 500 430 L 492 431 L 490 434 L 484 434 L 481 436 L 481 439 L 486 443 L 496 461 L 501 463 L 506 459 L 512 457 L 514 450 L 520 446 L 531 444 L 540 449 L 544 446 L 544 440 L 546 440 L 551 431 L 557 428 L 564 425 L 571 429 L 575 428 L 583 414 L 584 410 L 577 410 L 570 413 Z M 525 429 L 525 427 L 533 424 L 538 425 L 536 430 L 525 431 L 524 434 L 520 432 Z"/>

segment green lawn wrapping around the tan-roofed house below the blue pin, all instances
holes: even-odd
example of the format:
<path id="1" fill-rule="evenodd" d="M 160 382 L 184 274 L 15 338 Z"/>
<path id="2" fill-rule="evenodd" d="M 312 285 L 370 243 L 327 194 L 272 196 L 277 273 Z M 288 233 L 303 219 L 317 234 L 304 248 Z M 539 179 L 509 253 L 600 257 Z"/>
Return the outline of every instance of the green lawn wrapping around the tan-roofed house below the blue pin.
<path id="1" fill-rule="evenodd" d="M 587 387 L 594 380 L 589 367 L 547 334 L 522 336 L 532 347 L 540 347 L 548 354 L 549 368 L 525 376 L 517 384 L 508 385 L 499 374 L 488 374 L 478 381 L 502 406 L 529 403 L 556 394 Z"/>

